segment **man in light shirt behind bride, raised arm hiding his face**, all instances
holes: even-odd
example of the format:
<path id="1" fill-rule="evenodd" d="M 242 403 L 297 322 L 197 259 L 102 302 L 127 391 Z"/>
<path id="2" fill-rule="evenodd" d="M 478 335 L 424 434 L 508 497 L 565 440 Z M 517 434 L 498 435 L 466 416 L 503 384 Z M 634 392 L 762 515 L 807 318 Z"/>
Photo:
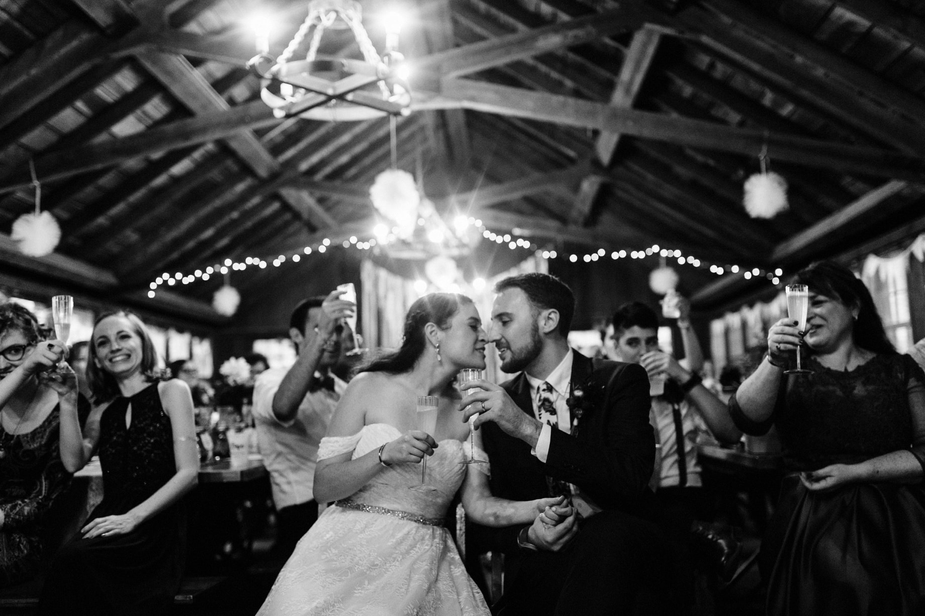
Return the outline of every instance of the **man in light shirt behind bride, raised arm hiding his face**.
<path id="1" fill-rule="evenodd" d="M 312 493 L 318 443 L 327 432 L 346 383 L 331 373 L 340 359 L 347 327 L 344 317 L 356 304 L 327 297 L 304 300 L 290 317 L 290 338 L 299 351 L 289 370 L 271 368 L 253 386 L 257 442 L 270 474 L 277 507 L 276 551 L 289 557 L 318 518 Z"/>

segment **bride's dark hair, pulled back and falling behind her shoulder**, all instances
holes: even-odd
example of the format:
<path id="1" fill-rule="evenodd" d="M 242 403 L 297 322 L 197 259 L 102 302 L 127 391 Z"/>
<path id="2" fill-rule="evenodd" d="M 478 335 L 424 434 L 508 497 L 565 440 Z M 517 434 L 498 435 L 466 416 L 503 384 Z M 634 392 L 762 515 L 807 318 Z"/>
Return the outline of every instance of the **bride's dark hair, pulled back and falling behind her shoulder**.
<path id="1" fill-rule="evenodd" d="M 472 303 L 472 300 L 460 293 L 429 293 L 414 302 L 405 316 L 401 348 L 377 357 L 360 368 L 358 373 L 386 372 L 400 375 L 409 372 L 427 347 L 425 325 L 433 323 L 440 329 L 448 329 L 450 321 L 463 303 Z"/>

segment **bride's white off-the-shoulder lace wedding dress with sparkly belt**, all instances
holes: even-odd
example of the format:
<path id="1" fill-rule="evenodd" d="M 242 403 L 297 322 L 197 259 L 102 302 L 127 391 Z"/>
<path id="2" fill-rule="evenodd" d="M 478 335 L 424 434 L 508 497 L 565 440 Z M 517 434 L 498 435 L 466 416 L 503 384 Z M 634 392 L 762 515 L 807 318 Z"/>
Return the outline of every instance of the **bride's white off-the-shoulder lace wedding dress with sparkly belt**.
<path id="1" fill-rule="evenodd" d="M 356 459 L 397 437 L 392 425 L 365 425 L 352 437 L 324 438 L 318 459 L 348 451 Z M 420 464 L 395 464 L 347 502 L 328 507 L 299 541 L 258 616 L 487 616 L 442 526 L 466 470 L 487 467 L 460 463 L 467 455 L 468 442 L 439 442 L 427 459 L 427 483 L 437 491 L 410 489 L 421 483 Z"/>

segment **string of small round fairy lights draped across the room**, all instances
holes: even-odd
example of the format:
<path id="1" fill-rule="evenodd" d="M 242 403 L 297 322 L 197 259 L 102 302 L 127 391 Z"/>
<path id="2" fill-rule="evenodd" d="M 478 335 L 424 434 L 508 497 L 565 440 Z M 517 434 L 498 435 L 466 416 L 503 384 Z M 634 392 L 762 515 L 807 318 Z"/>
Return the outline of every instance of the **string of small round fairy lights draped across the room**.
<path id="1" fill-rule="evenodd" d="M 535 241 L 527 240 L 526 238 L 517 237 L 512 233 L 496 233 L 485 227 L 482 223 L 482 220 L 475 217 L 465 217 L 459 216 L 454 221 L 454 227 L 459 231 L 461 228 L 471 227 L 475 228 L 485 240 L 493 241 L 500 245 L 507 246 L 508 249 L 512 251 L 530 251 L 533 250 L 537 256 L 543 259 L 559 259 L 564 258 L 568 259 L 570 263 L 577 263 L 582 261 L 584 263 L 595 263 L 598 261 L 605 261 L 608 256 L 610 256 L 611 261 L 617 261 L 619 259 L 646 259 L 648 257 L 658 257 L 664 265 L 685 265 L 691 267 L 708 267 L 709 271 L 716 276 L 730 276 L 730 275 L 741 275 L 746 280 L 751 278 L 766 278 L 772 285 L 779 285 L 781 283 L 781 277 L 783 276 L 783 270 L 781 268 L 776 268 L 774 270 L 765 270 L 760 267 L 747 268 L 737 264 L 714 264 L 707 261 L 702 261 L 697 259 L 697 257 L 691 254 L 682 253 L 682 251 L 677 249 L 662 248 L 659 244 L 653 244 L 647 248 L 641 250 L 619 250 L 619 251 L 606 251 L 603 248 L 599 248 L 597 251 L 592 253 L 559 253 L 556 250 L 541 248 Z M 343 249 L 354 249 L 359 251 L 369 251 L 376 248 L 376 246 L 386 246 L 389 243 L 392 243 L 397 240 L 395 234 L 392 232 L 394 229 L 388 229 L 384 225 L 377 225 L 374 228 L 375 237 L 369 239 L 361 239 L 356 235 L 352 235 L 346 240 L 339 242 L 325 238 L 320 242 L 317 242 L 313 245 L 305 246 L 301 251 L 289 251 L 287 253 L 280 253 L 276 256 L 247 256 L 240 260 L 234 260 L 231 258 L 226 258 L 224 261 L 214 263 L 212 265 L 206 265 L 202 268 L 198 268 L 191 273 L 184 272 L 175 272 L 170 274 L 165 272 L 161 276 L 154 278 L 154 280 L 149 284 L 148 297 L 154 298 L 156 291 L 162 287 L 174 287 L 177 285 L 189 285 L 197 280 L 209 280 L 212 277 L 216 276 L 226 276 L 229 272 L 235 271 L 244 271 L 248 267 L 258 267 L 260 269 L 265 269 L 269 266 L 281 267 L 286 264 L 298 264 L 302 260 L 310 257 L 313 254 L 324 254 L 327 251 L 343 248 Z M 438 237 L 439 236 L 439 237 Z M 436 233 L 431 231 L 428 233 L 428 240 L 433 241 L 434 243 L 440 243 L 444 240 L 444 235 L 442 233 Z"/>

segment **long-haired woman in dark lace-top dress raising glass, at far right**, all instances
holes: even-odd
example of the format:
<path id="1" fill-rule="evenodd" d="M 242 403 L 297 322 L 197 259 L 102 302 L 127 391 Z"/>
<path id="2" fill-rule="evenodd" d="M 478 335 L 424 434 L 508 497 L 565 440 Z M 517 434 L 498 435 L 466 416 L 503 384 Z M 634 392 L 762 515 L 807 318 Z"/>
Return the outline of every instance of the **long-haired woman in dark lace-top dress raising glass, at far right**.
<path id="1" fill-rule="evenodd" d="M 746 434 L 776 424 L 790 471 L 761 546 L 768 613 L 925 613 L 925 375 L 894 351 L 850 270 L 810 265 L 807 331 L 778 321 L 730 400 Z M 783 374 L 797 346 L 810 375 Z"/>

